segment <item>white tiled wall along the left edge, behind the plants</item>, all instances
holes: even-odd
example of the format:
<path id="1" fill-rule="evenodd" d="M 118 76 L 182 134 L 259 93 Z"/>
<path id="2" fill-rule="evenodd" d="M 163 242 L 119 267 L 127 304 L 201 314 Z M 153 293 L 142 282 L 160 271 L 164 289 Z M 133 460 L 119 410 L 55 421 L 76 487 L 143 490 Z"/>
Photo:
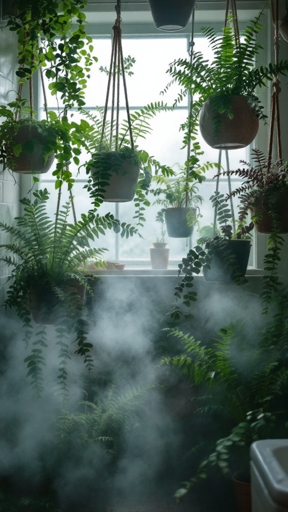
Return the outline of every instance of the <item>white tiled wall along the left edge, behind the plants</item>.
<path id="1" fill-rule="evenodd" d="M 17 80 L 17 38 L 15 32 L 0 28 L 0 104 L 7 104 L 15 99 Z M 11 224 L 19 214 L 20 187 L 19 178 L 12 176 L 8 170 L 0 169 L 0 220 Z M 8 235 L 0 233 L 0 243 L 8 241 Z M 3 254 L 3 251 L 1 251 Z M 9 268 L 0 262 L 0 304 L 3 304 Z M 3 286 L 4 285 L 4 286 Z M 1 311 L 1 310 L 0 310 Z"/>

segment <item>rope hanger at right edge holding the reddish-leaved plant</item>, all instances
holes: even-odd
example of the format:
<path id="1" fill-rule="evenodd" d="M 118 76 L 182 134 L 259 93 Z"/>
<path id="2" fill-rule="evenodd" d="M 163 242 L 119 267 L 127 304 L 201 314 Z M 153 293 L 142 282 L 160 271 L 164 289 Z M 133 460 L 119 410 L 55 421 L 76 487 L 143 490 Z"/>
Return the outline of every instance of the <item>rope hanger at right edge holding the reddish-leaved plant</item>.
<path id="1" fill-rule="evenodd" d="M 274 50 L 275 50 L 275 64 L 279 63 L 279 47 L 280 47 L 280 36 L 279 36 L 279 0 L 276 0 L 274 7 L 274 0 L 271 0 L 272 18 L 275 26 L 274 35 Z M 272 153 L 273 153 L 273 138 L 276 120 L 276 133 L 277 133 L 277 151 L 278 159 L 282 160 L 282 145 L 281 145 L 281 132 L 280 132 L 280 109 L 279 109 L 279 94 L 281 92 L 280 81 L 278 75 L 273 81 L 273 93 L 271 97 L 271 116 L 270 116 L 270 135 L 269 135 L 269 146 L 268 146 L 268 167 L 267 174 L 271 171 Z"/>

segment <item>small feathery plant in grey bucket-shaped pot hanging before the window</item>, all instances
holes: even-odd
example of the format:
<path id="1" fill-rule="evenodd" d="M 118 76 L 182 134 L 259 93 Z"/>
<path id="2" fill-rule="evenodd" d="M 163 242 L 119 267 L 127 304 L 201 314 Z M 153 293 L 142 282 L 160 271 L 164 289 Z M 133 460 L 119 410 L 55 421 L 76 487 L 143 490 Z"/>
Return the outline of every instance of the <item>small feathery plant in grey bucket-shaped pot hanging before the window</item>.
<path id="1" fill-rule="evenodd" d="M 200 214 L 197 208 L 202 202 L 202 197 L 197 194 L 198 186 L 205 180 L 206 170 L 217 167 L 217 164 L 205 162 L 200 164 L 200 151 L 198 142 L 193 143 L 193 153 L 180 168 L 176 178 L 156 176 L 154 180 L 159 188 L 151 190 L 157 198 L 154 204 L 164 206 L 162 216 L 165 218 L 169 237 L 188 238 L 193 233 L 193 227 L 198 222 Z M 158 212 L 158 216 L 160 212 Z"/>

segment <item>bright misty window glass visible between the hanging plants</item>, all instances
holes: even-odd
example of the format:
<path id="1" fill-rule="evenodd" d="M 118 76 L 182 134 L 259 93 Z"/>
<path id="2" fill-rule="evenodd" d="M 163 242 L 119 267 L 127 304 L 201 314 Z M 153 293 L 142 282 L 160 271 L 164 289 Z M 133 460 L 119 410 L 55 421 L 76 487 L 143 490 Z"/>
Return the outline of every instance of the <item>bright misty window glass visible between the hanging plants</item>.
<path id="1" fill-rule="evenodd" d="M 208 24 L 208 23 L 207 23 Z M 184 57 L 188 55 L 189 34 L 173 34 L 173 35 L 150 35 L 150 36 L 123 36 L 122 46 L 124 55 L 135 57 L 136 63 L 133 67 L 133 76 L 127 77 L 128 98 L 130 110 L 138 110 L 141 106 L 158 100 L 163 100 L 168 104 L 172 104 L 176 97 L 176 88 L 171 88 L 167 94 L 160 95 L 160 91 L 164 89 L 169 81 L 169 75 L 166 73 L 169 63 L 174 58 Z M 195 36 L 195 49 L 201 50 L 210 57 L 210 49 L 208 41 L 200 35 Z M 105 102 L 107 76 L 100 73 L 99 67 L 108 67 L 111 55 L 111 37 L 95 36 L 94 37 L 94 53 L 98 57 L 98 63 L 91 72 L 91 79 L 86 93 L 86 108 L 91 112 L 95 111 L 96 105 L 103 106 Z M 149 63 L 148 63 L 149 62 Z M 43 101 L 39 102 L 40 105 Z M 55 97 L 48 99 L 49 110 L 57 110 Z M 125 108 L 122 105 L 122 112 L 125 116 Z M 180 106 L 173 112 L 159 113 L 155 119 L 151 121 L 153 127 L 152 135 L 139 143 L 139 147 L 145 149 L 150 155 L 155 156 L 163 164 L 168 164 L 177 168 L 177 164 L 182 164 L 187 158 L 187 150 L 181 149 L 182 133 L 179 132 L 180 124 L 186 119 L 188 114 L 188 99 L 182 102 Z M 39 109 L 40 111 L 40 109 Z M 43 113 L 44 114 L 44 113 Z M 71 113 L 70 113 L 71 115 Z M 78 113 L 72 113 L 76 119 Z M 213 150 L 199 136 L 201 148 L 204 151 L 203 161 L 217 162 L 218 151 Z M 230 168 L 239 166 L 239 160 L 249 160 L 249 148 L 244 150 L 234 150 L 229 152 Z M 83 162 L 85 155 L 81 156 Z M 222 153 L 222 164 L 225 168 L 225 154 Z M 91 206 L 86 190 L 83 186 L 86 182 L 85 168 L 81 168 L 81 172 L 76 176 L 76 169 L 73 169 L 76 183 L 73 188 L 75 198 L 76 214 L 79 216 L 81 212 L 87 211 Z M 52 171 L 51 171 L 52 173 Z M 56 194 L 53 194 L 54 180 L 52 174 L 42 176 L 42 184 L 51 191 L 51 211 L 49 214 L 53 216 L 56 209 Z M 206 181 L 201 185 L 199 193 L 203 197 L 201 207 L 200 227 L 211 224 L 213 220 L 213 211 L 209 201 L 210 196 L 215 191 L 215 175 L 214 170 L 207 172 Z M 221 179 L 221 192 L 228 191 L 227 183 Z M 239 180 L 234 180 L 233 188 L 237 187 Z M 68 196 L 67 196 L 68 197 Z M 54 198 L 54 200 L 53 200 Z M 153 197 L 149 198 L 153 202 Z M 65 202 L 63 194 L 62 203 Z M 131 222 L 133 224 L 134 207 L 131 203 L 104 203 L 99 209 L 99 214 L 105 214 L 111 211 L 121 221 Z M 235 207 L 237 204 L 235 204 Z M 106 247 L 109 249 L 107 259 L 109 261 L 122 261 L 129 266 L 146 266 L 150 268 L 149 247 L 160 237 L 160 225 L 155 222 L 156 213 L 159 206 L 152 205 L 145 214 L 147 222 L 144 228 L 140 229 L 142 239 L 137 236 L 130 239 L 120 239 L 118 235 L 108 232 L 102 240 L 97 241 L 98 247 Z M 184 257 L 187 250 L 196 244 L 197 229 L 194 229 L 192 240 L 189 239 L 173 239 L 166 237 L 170 248 L 170 265 L 176 266 Z M 255 255 L 251 255 L 250 266 L 255 266 Z"/>

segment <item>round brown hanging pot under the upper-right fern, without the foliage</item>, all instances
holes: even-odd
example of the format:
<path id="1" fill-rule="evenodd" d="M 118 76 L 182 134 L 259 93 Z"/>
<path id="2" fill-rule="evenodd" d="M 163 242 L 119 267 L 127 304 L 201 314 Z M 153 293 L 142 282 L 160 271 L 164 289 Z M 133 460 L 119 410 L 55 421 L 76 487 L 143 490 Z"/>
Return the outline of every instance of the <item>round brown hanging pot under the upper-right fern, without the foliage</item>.
<path id="1" fill-rule="evenodd" d="M 200 109 L 199 128 L 207 144 L 218 150 L 238 150 L 255 139 L 259 119 L 249 99 L 232 96 L 233 118 L 215 112 L 215 99 L 209 98 Z M 216 119 L 215 119 L 216 118 Z"/>

